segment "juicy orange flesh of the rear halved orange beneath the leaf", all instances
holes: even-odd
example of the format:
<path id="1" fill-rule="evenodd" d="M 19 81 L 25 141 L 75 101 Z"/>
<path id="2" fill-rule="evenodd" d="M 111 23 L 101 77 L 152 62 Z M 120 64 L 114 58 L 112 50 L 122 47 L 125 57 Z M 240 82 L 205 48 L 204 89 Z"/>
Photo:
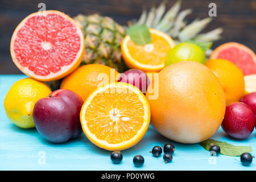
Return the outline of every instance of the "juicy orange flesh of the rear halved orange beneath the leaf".
<path id="1" fill-rule="evenodd" d="M 162 36 L 151 33 L 152 42 L 144 46 L 138 46 L 132 40 L 127 43 L 129 54 L 133 59 L 139 60 L 141 64 L 159 65 L 163 64 L 166 59 L 167 53 L 171 50 L 170 43 L 167 42 Z M 148 51 L 145 51 L 145 46 Z"/>

